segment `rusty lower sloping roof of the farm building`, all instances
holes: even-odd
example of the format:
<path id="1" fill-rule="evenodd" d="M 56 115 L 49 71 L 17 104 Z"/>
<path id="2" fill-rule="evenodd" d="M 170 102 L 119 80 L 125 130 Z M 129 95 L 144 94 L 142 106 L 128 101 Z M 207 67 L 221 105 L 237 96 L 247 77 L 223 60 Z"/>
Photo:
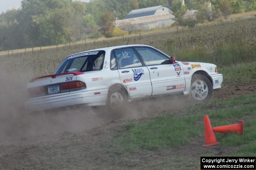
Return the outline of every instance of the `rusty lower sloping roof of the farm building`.
<path id="1" fill-rule="evenodd" d="M 114 25 L 117 27 L 121 27 L 121 26 L 129 26 L 129 25 L 134 25 L 134 24 L 151 23 L 151 22 L 156 22 L 156 21 L 160 21 L 160 20 L 168 20 L 168 19 L 172 19 L 172 18 L 174 18 L 174 16 L 172 14 L 165 13 L 165 14 L 150 15 L 150 16 L 145 16 L 145 17 L 117 20 L 114 23 Z"/>

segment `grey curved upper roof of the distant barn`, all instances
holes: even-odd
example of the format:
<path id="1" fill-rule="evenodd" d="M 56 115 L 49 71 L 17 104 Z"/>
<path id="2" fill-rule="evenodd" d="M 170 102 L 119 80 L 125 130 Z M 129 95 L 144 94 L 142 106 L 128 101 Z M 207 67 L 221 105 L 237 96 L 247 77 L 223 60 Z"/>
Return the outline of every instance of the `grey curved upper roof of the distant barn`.
<path id="1" fill-rule="evenodd" d="M 136 9 L 136 10 L 129 12 L 129 14 L 126 15 L 125 19 L 154 15 L 155 12 L 161 7 L 166 7 L 166 6 L 159 5 L 159 6 L 155 6 L 155 7 Z"/>

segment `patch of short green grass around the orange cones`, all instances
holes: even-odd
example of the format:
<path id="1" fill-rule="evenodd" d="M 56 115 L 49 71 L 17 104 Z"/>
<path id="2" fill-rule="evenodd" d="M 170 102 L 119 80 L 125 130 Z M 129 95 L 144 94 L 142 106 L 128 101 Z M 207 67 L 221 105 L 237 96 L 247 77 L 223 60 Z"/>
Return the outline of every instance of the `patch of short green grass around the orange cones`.
<path id="1" fill-rule="evenodd" d="M 215 108 L 214 111 L 208 106 Z M 245 121 L 245 135 L 216 133 L 223 146 L 238 147 L 235 154 L 255 156 L 256 94 L 235 97 L 226 101 L 214 100 L 209 104 L 194 105 L 183 111 L 198 110 L 183 116 L 160 116 L 148 122 L 130 122 L 127 131 L 117 136 L 111 144 L 117 150 L 156 150 L 189 144 L 192 137 L 204 136 L 203 116 L 208 115 L 211 125 L 221 126 Z M 182 111 L 182 110 L 180 110 Z"/>

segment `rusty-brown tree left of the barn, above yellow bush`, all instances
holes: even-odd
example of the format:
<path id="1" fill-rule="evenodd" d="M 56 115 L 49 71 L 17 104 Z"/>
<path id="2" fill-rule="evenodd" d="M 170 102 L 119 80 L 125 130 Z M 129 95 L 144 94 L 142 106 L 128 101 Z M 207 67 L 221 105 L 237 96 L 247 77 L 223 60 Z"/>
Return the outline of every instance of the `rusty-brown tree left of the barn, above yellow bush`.
<path id="1" fill-rule="evenodd" d="M 105 37 L 111 37 L 112 32 L 115 28 L 114 21 L 116 20 L 116 17 L 111 12 L 105 12 L 101 14 L 101 32 Z"/>

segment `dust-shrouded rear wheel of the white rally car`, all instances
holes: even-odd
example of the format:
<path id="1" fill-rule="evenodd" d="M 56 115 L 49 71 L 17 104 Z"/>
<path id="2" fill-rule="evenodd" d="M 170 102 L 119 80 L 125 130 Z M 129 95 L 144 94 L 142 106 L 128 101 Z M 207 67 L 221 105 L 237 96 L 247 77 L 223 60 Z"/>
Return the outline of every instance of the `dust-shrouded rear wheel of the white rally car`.
<path id="1" fill-rule="evenodd" d="M 113 104 L 111 100 L 113 100 L 113 95 L 117 95 L 118 97 L 123 98 L 123 101 L 117 104 Z M 128 96 L 125 94 L 125 92 L 117 87 L 111 88 L 108 91 L 108 98 L 107 98 L 107 107 L 108 111 L 111 113 L 117 114 L 120 112 L 123 112 L 125 110 L 126 104 L 128 103 Z"/>

